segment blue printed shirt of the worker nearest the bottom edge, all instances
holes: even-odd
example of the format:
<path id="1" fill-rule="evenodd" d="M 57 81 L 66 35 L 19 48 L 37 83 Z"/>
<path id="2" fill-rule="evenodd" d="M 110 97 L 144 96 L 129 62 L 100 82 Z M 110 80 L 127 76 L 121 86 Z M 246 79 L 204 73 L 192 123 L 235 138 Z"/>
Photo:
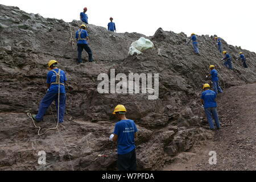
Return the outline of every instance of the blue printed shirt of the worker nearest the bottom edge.
<path id="1" fill-rule="evenodd" d="M 133 120 L 121 120 L 115 124 L 114 134 L 118 135 L 117 153 L 127 154 L 133 151 L 135 146 L 134 134 L 137 132 L 137 127 Z"/>

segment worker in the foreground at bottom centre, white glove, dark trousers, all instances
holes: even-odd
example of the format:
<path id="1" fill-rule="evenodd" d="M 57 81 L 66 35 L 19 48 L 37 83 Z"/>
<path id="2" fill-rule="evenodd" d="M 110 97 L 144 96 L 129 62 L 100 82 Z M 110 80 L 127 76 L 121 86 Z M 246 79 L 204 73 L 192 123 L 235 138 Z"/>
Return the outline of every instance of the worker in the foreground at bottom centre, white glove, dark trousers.
<path id="1" fill-rule="evenodd" d="M 134 138 L 137 137 L 137 127 L 133 120 L 126 118 L 125 106 L 117 105 L 113 114 L 120 119 L 120 121 L 115 124 L 114 133 L 110 135 L 110 140 L 114 142 L 117 141 L 118 170 L 136 171 L 137 163 Z"/>

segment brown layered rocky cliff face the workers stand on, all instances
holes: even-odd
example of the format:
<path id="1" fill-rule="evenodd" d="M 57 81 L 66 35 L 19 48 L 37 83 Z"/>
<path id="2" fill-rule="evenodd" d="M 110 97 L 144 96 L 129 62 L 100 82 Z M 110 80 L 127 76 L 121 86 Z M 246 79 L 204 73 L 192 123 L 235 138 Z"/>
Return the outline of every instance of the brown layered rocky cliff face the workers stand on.
<path id="1" fill-rule="evenodd" d="M 171 163 L 179 152 L 212 138 L 205 130 L 200 108 L 201 85 L 210 64 L 220 73 L 222 88 L 256 81 L 254 52 L 241 50 L 223 42 L 233 57 L 234 70 L 221 61 L 213 36 L 199 36 L 201 56 L 187 46 L 183 33 L 163 31 L 154 36 L 137 33 L 116 34 L 104 27 L 89 24 L 89 46 L 94 62 L 76 63 L 74 38 L 80 22 L 43 18 L 27 14 L 18 7 L 0 5 L 0 169 L 116 169 L 117 152 L 108 141 L 116 119 L 112 111 L 117 104 L 127 107 L 127 118 L 134 119 L 139 133 L 138 169 L 155 170 Z M 129 46 L 141 36 L 150 39 L 154 49 L 139 56 L 127 56 Z M 243 68 L 234 57 L 242 51 L 249 68 Z M 82 55 L 87 60 L 84 52 Z M 46 92 L 47 63 L 59 61 L 67 73 L 67 112 L 58 130 L 38 137 L 27 112 L 36 113 Z M 100 94 L 100 73 L 159 73 L 159 98 L 148 100 L 146 94 Z M 117 81 L 118 82 L 118 81 Z M 225 91 L 225 90 L 224 90 Z M 54 116 L 52 115 L 52 111 Z M 55 107 L 48 110 L 44 129 L 54 127 Z M 46 151 L 46 165 L 38 164 L 38 152 Z M 99 154 L 108 157 L 98 157 Z"/>

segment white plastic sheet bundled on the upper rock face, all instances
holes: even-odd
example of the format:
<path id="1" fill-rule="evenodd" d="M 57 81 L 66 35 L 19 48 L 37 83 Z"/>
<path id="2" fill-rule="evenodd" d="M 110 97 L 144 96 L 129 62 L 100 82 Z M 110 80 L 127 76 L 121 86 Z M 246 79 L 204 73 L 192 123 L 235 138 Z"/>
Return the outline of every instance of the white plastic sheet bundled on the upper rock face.
<path id="1" fill-rule="evenodd" d="M 139 38 L 139 40 L 131 43 L 131 47 L 129 48 L 129 55 L 134 55 L 134 53 L 137 53 L 138 55 L 142 54 L 142 51 L 154 48 L 154 44 L 149 40 L 145 38 Z"/>

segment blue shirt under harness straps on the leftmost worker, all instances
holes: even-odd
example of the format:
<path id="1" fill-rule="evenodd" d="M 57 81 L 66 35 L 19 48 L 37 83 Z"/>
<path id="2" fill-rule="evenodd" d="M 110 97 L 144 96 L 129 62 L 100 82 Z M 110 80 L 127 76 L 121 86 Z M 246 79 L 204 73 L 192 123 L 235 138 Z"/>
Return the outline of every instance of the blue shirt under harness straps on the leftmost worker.
<path id="1" fill-rule="evenodd" d="M 53 69 L 55 72 L 59 72 L 59 69 Z M 49 87 L 49 90 L 48 92 L 49 93 L 58 93 L 59 92 L 59 85 L 51 85 L 52 82 L 57 82 L 56 80 L 56 73 L 53 72 L 53 71 L 49 71 L 48 74 L 47 74 L 47 84 L 50 84 L 50 87 Z M 65 75 L 65 72 L 64 71 L 60 71 L 60 82 L 65 84 L 64 81 L 67 81 L 67 78 L 66 78 L 66 75 Z M 64 85 L 60 85 L 60 93 L 66 93 L 65 92 L 65 86 Z"/>

